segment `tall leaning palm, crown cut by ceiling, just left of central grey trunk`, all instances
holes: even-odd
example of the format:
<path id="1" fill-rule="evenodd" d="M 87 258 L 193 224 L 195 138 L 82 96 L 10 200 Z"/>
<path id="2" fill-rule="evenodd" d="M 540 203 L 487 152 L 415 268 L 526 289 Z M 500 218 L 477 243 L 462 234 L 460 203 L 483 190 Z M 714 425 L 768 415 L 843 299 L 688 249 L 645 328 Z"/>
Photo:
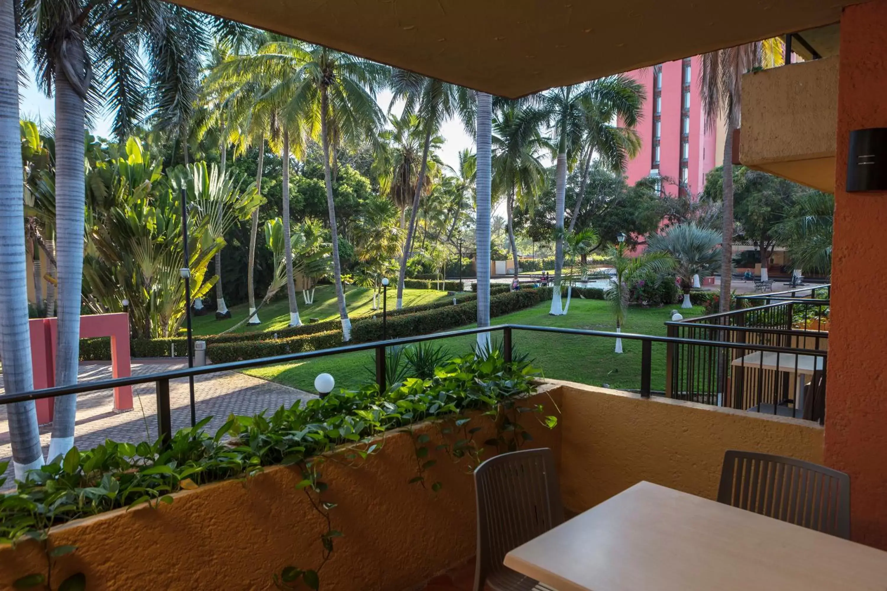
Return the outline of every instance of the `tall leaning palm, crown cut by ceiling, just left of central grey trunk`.
<path id="1" fill-rule="evenodd" d="M 420 74 L 396 70 L 391 82 L 394 91 L 392 101 L 404 99 L 404 113 L 416 114 L 422 122 L 422 155 L 420 157 L 419 176 L 416 180 L 412 197 L 412 214 L 406 228 L 404 252 L 401 255 L 400 274 L 397 280 L 397 309 L 404 306 L 404 279 L 406 278 L 406 262 L 410 258 L 412 237 L 416 231 L 416 216 L 419 214 L 420 198 L 428 168 L 428 152 L 431 138 L 436 135 L 443 121 L 454 115 L 462 115 L 467 120 L 470 101 L 467 89 L 442 82 L 434 78 L 426 78 Z"/>

